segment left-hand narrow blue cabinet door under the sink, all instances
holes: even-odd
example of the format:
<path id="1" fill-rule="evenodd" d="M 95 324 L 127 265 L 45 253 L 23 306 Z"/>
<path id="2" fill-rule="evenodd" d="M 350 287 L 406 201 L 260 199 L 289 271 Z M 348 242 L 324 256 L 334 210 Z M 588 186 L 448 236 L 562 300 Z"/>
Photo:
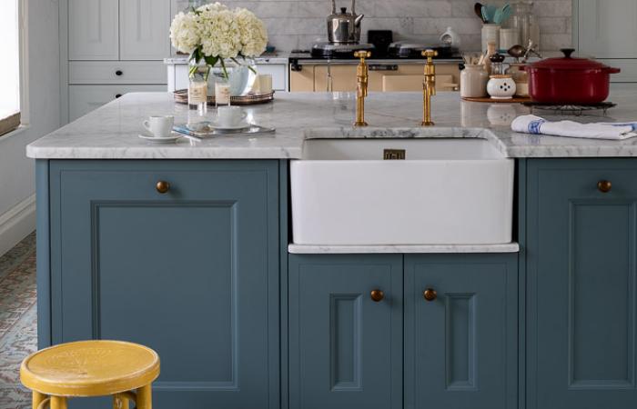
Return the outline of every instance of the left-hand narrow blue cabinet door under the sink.
<path id="1" fill-rule="evenodd" d="M 401 255 L 290 254 L 290 409 L 401 409 L 401 360 Z"/>

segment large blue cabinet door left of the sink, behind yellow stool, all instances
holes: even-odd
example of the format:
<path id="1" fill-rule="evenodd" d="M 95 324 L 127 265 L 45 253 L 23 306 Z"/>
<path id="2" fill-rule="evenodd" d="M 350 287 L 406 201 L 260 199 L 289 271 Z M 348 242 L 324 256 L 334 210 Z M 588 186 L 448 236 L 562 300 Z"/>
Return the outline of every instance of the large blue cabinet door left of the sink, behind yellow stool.
<path id="1" fill-rule="evenodd" d="M 278 162 L 53 161 L 50 195 L 54 344 L 156 349 L 159 409 L 279 406 Z"/>

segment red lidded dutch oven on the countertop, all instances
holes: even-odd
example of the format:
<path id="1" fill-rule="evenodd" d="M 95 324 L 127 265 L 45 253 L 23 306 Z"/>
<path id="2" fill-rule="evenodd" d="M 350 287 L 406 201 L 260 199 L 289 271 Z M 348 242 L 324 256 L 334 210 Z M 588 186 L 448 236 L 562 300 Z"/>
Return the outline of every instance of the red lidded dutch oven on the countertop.
<path id="1" fill-rule="evenodd" d="M 561 58 L 547 58 L 526 67 L 529 94 L 544 104 L 599 104 L 608 98 L 611 74 L 621 72 L 586 58 L 573 58 L 575 50 L 564 48 Z"/>

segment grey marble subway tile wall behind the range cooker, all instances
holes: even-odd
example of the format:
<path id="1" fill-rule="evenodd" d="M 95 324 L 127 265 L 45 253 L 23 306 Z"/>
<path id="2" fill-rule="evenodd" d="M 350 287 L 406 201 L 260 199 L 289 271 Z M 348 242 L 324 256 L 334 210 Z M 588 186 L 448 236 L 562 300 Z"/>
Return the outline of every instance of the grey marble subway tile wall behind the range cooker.
<path id="1" fill-rule="evenodd" d="M 187 1 L 173 0 L 177 10 Z M 279 50 L 308 48 L 327 37 L 326 17 L 331 12 L 330 0 L 229 0 L 228 6 L 242 6 L 252 10 L 268 26 L 270 44 Z M 337 7 L 347 6 L 351 0 L 337 0 Z M 493 4 L 503 4 L 494 0 Z M 570 46 L 571 0 L 538 0 L 535 14 L 541 26 L 541 49 L 558 50 Z M 396 40 L 410 39 L 435 44 L 447 29 L 460 34 L 462 49 L 480 49 L 480 19 L 473 14 L 471 0 L 357 0 L 356 11 L 364 14 L 362 38 L 369 29 L 389 29 Z"/>

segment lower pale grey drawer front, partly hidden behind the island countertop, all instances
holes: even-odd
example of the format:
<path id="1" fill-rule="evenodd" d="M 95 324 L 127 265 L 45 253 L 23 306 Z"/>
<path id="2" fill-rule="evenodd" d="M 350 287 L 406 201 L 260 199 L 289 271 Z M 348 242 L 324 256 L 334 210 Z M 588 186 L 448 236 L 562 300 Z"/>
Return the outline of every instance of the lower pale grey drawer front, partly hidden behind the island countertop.
<path id="1" fill-rule="evenodd" d="M 161 91 L 166 91 L 166 85 L 69 85 L 69 121 L 75 121 L 121 95 Z"/>

